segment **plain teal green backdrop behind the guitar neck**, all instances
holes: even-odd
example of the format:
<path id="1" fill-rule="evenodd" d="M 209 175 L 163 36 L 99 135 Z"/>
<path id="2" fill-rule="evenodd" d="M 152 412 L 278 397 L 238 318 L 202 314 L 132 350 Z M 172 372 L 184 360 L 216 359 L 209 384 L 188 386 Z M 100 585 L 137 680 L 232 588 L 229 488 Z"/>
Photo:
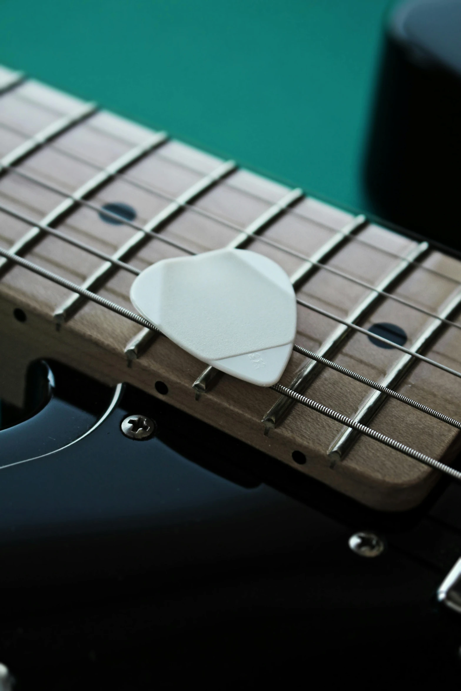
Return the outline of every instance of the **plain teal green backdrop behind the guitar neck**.
<path id="1" fill-rule="evenodd" d="M 0 63 L 343 205 L 389 0 L 0 0 Z"/>

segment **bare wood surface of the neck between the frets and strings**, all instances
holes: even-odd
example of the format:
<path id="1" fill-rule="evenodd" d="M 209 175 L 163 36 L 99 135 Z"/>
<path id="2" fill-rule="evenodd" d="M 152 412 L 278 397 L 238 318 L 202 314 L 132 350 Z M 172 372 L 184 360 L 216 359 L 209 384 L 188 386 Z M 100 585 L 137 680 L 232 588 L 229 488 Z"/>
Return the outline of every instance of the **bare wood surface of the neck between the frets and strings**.
<path id="1" fill-rule="evenodd" d="M 0 88 L 2 80 L 6 84 L 8 78 L 11 79 L 8 71 L 1 70 Z M 5 91 L 0 95 L 0 157 L 81 106 L 82 102 L 32 81 Z M 17 168 L 73 193 L 100 169 L 151 135 L 151 131 L 110 113 L 95 113 L 23 158 Z M 99 206 L 109 202 L 129 204 L 136 210 L 136 223 L 144 225 L 166 208 L 172 198 L 184 193 L 221 163 L 220 159 L 197 149 L 179 142 L 167 142 L 97 189 L 90 197 L 91 202 Z M 183 209 L 159 232 L 194 252 L 223 247 L 238 234 L 238 230 L 229 224 L 245 229 L 288 191 L 281 184 L 237 170 L 194 202 L 194 206 L 205 214 Z M 62 200 L 62 195 L 35 182 L 9 171 L 1 173 L 0 204 L 17 209 L 37 222 Z M 294 205 L 293 211 L 267 225 L 261 234 L 289 249 L 312 256 L 352 218 L 345 211 L 304 198 Z M 220 223 L 219 219 L 225 220 L 227 225 Z M 9 249 L 29 229 L 28 224 L 0 212 L 1 247 Z M 59 229 L 108 254 L 113 254 L 135 233 L 127 225 L 105 223 L 97 212 L 84 206 L 77 206 L 59 223 Z M 397 264 L 395 255 L 404 256 L 417 245 L 415 240 L 371 223 L 357 231 L 355 236 L 358 239 L 344 243 L 328 263 L 373 285 L 377 285 Z M 265 245 L 258 238 L 251 240 L 247 247 L 270 256 L 289 275 L 303 264 L 301 258 Z M 150 239 L 129 262 L 144 269 L 161 258 L 181 254 L 184 253 L 178 249 Z M 80 249 L 45 235 L 41 235 L 24 256 L 79 284 L 102 263 Z M 424 255 L 422 265 L 443 275 L 413 266 L 393 287 L 393 292 L 426 310 L 438 312 L 459 290 L 461 263 L 431 250 Z M 119 269 L 98 292 L 132 309 L 129 301 L 132 281 L 131 274 Z M 347 318 L 369 291 L 319 269 L 297 292 L 305 301 Z M 209 393 L 196 401 L 191 384 L 203 371 L 203 363 L 166 338 L 158 337 L 128 368 L 124 348 L 140 328 L 103 307 L 85 303 L 58 332 L 53 313 L 68 297 L 69 292 L 64 288 L 26 269 L 10 265 L 3 269 L 0 281 L 0 396 L 21 404 L 19 382 L 23 380 L 27 363 L 37 357 L 51 357 L 109 384 L 129 381 L 156 396 L 159 394 L 155 383 L 160 379 L 169 388 L 167 399 L 171 404 L 378 509 L 413 507 L 438 479 L 438 474 L 430 468 L 365 437 L 359 438 L 346 458 L 332 469 L 327 451 L 341 430 L 336 422 L 298 405 L 270 435 L 265 436 L 261 418 L 278 399 L 274 391 L 223 376 Z M 25 323 L 15 320 L 13 310 L 16 307 L 26 312 L 28 319 Z M 296 342 L 310 350 L 318 350 L 337 327 L 334 321 L 304 307 L 299 307 L 298 316 Z M 401 325 L 408 335 L 409 345 L 429 321 L 431 317 L 411 307 L 383 299 L 359 323 L 364 328 L 379 322 Z M 449 328 L 426 354 L 460 370 L 460 343 L 460 332 Z M 334 359 L 379 381 L 400 357 L 402 352 L 377 348 L 364 335 L 355 333 L 346 340 Z M 281 383 L 288 386 L 305 363 L 305 358 L 293 354 Z M 459 380 L 426 363 L 417 363 L 397 389 L 442 413 L 458 419 L 461 417 Z M 366 386 L 332 370 L 323 370 L 308 390 L 313 399 L 351 417 L 370 392 Z M 386 401 L 370 425 L 445 462 L 452 459 L 458 446 L 459 435 L 454 428 L 395 400 Z M 293 462 L 292 452 L 295 450 L 305 454 L 305 465 Z"/>

